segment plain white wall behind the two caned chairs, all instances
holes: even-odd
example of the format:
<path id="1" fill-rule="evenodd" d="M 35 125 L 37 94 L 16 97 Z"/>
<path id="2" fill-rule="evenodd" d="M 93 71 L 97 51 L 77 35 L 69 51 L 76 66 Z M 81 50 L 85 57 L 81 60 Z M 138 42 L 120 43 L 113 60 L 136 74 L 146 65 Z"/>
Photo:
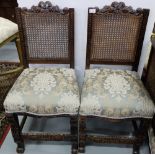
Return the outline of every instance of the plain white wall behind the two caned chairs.
<path id="1" fill-rule="evenodd" d="M 18 0 L 20 7 L 30 7 L 38 4 L 40 0 Z M 45 1 L 45 0 L 43 0 Z M 82 81 L 85 69 L 86 58 L 86 39 L 87 39 L 87 11 L 88 7 L 103 7 L 110 5 L 114 0 L 50 0 L 52 4 L 59 5 L 60 8 L 72 7 L 75 8 L 75 69 L 78 79 Z M 148 54 L 148 46 L 150 35 L 152 33 L 155 22 L 155 0 L 121 0 L 127 6 L 131 5 L 133 8 L 148 8 L 150 9 L 150 16 L 148 20 L 145 40 L 142 49 L 142 56 L 139 65 L 139 74 L 141 75 Z M 80 82 L 79 81 L 79 82 Z"/>

